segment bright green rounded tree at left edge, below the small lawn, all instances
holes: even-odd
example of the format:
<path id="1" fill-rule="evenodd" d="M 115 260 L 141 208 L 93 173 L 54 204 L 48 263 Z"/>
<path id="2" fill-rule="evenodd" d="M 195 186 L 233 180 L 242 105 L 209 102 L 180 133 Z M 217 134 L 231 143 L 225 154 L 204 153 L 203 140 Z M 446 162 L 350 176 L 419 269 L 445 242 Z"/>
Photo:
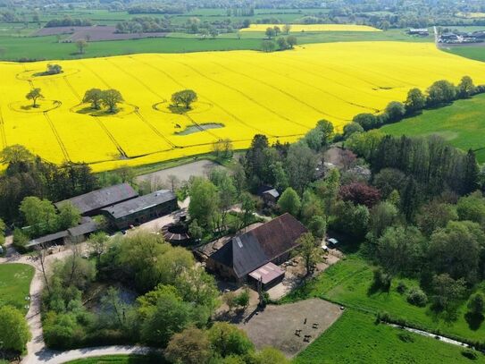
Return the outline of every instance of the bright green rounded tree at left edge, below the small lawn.
<path id="1" fill-rule="evenodd" d="M 12 306 L 0 307 L 0 322 L 1 347 L 6 350 L 25 351 L 31 336 L 21 311 Z"/>

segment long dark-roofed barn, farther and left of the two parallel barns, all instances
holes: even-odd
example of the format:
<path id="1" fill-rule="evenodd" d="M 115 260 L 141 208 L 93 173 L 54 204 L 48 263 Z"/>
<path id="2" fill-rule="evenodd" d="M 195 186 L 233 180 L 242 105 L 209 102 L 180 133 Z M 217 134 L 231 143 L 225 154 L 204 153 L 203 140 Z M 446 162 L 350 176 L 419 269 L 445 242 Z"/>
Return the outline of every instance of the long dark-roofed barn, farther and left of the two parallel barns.
<path id="1" fill-rule="evenodd" d="M 82 216 L 95 216 L 101 213 L 101 209 L 109 207 L 120 202 L 127 201 L 138 197 L 137 191 L 128 183 L 121 183 L 110 187 L 105 187 L 101 190 L 93 190 L 73 197 L 71 199 L 64 199 L 61 202 L 55 203 L 55 207 L 59 208 L 68 202 L 78 207 Z"/>

